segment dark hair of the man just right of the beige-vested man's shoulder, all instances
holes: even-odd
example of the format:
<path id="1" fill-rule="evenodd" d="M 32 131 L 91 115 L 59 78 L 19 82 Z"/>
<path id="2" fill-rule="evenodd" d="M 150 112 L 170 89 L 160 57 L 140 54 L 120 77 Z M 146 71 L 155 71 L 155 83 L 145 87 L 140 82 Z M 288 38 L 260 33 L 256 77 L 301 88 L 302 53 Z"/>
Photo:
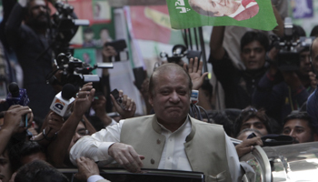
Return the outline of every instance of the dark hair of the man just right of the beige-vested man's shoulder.
<path id="1" fill-rule="evenodd" d="M 265 114 L 265 111 L 263 109 L 257 110 L 253 106 L 248 106 L 244 108 L 242 113 L 235 119 L 235 122 L 234 122 L 235 137 L 237 137 L 237 135 L 240 133 L 241 126 L 243 125 L 243 123 L 253 117 L 260 119 L 260 121 L 266 127 L 267 132 L 269 134 L 272 133 L 270 118 Z"/>

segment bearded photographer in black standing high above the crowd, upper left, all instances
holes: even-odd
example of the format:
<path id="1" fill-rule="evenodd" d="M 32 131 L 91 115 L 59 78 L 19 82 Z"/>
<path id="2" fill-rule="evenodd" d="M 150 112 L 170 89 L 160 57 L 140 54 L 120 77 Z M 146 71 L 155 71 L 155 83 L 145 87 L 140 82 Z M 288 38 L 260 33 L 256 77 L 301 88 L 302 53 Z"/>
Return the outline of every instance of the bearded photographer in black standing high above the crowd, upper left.
<path id="1" fill-rule="evenodd" d="M 41 118 L 45 118 L 55 97 L 54 87 L 46 84 L 45 79 L 53 70 L 54 47 L 51 45 L 55 43 L 53 35 L 57 31 L 50 24 L 53 8 L 45 0 L 19 0 L 5 25 L 7 40 L 24 72 L 29 106 L 35 116 Z M 72 16 L 75 17 L 74 14 Z"/>

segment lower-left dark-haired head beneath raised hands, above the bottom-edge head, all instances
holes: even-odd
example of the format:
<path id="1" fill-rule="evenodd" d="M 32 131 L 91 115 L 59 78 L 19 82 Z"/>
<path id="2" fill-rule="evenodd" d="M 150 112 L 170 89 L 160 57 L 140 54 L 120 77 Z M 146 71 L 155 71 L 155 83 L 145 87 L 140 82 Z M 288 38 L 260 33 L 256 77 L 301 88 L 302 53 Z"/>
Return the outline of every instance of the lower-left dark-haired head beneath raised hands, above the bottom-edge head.
<path id="1" fill-rule="evenodd" d="M 34 160 L 47 159 L 45 148 L 33 141 L 15 144 L 10 148 L 9 156 L 14 171 Z"/>

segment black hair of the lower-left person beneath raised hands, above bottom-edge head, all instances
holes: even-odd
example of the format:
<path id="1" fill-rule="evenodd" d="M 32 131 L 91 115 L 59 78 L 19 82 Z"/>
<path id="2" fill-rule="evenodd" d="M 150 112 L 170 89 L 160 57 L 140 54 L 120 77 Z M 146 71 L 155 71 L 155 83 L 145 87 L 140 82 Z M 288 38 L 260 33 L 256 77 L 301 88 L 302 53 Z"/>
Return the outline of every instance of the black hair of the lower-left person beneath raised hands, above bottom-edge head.
<path id="1" fill-rule="evenodd" d="M 12 146 L 9 151 L 9 158 L 14 171 L 23 166 L 21 162 L 23 157 L 37 153 L 46 154 L 45 148 L 34 141 L 25 141 Z"/>

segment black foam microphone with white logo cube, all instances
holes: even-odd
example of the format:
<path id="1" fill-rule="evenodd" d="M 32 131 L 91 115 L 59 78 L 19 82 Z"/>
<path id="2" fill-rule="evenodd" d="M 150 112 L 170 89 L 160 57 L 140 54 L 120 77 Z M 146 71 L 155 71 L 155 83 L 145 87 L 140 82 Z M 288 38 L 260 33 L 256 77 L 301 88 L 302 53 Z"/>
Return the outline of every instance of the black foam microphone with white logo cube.
<path id="1" fill-rule="evenodd" d="M 59 116 L 67 116 L 70 114 L 71 104 L 75 101 L 73 97 L 76 93 L 76 88 L 72 84 L 66 84 L 63 86 L 61 92 L 59 92 L 53 100 L 50 108 Z"/>

